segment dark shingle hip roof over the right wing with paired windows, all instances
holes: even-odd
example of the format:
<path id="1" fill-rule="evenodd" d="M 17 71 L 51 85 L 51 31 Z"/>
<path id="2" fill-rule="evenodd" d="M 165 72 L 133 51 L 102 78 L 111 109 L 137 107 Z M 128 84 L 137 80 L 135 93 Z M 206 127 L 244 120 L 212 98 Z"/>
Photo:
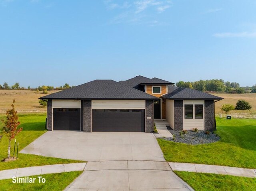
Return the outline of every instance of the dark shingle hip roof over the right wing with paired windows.
<path id="1" fill-rule="evenodd" d="M 190 88 L 177 88 L 171 93 L 168 93 L 161 97 L 167 99 L 223 99 L 222 97 L 214 96 Z"/>

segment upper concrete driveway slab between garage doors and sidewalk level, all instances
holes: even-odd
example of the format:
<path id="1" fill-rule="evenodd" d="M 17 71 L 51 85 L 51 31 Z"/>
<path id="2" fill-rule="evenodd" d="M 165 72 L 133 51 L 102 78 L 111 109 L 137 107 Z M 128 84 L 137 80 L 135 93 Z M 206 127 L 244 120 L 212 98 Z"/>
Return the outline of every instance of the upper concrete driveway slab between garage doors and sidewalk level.
<path id="1" fill-rule="evenodd" d="M 21 153 L 83 161 L 165 161 L 154 134 L 144 132 L 48 131 Z"/>

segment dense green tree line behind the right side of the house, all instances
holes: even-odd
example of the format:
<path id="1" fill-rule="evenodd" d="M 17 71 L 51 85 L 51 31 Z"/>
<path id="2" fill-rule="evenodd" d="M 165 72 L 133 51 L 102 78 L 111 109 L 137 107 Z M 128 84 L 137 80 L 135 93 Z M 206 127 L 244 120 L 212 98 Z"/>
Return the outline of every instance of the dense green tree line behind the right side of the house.
<path id="1" fill-rule="evenodd" d="M 252 87 L 240 87 L 240 84 L 237 82 L 225 82 L 222 79 L 200 80 L 194 82 L 179 81 L 176 83 L 176 86 L 212 93 L 256 93 L 256 84 Z"/>

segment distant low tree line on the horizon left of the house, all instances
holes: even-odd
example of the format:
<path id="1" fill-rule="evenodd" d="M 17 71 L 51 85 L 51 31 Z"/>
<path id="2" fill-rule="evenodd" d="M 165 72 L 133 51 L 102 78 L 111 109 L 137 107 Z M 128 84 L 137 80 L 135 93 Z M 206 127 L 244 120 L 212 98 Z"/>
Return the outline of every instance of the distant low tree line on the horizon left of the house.
<path id="1" fill-rule="evenodd" d="M 13 90 L 19 90 L 19 89 L 29 89 L 29 90 L 37 90 L 37 91 L 49 91 L 49 90 L 64 90 L 64 89 L 69 89 L 75 86 L 70 86 L 68 83 L 66 83 L 63 86 L 60 87 L 53 87 L 53 86 L 38 86 L 37 88 L 30 88 L 30 86 L 28 86 L 28 88 L 24 88 L 24 87 L 20 87 L 20 84 L 18 82 L 16 82 L 14 85 L 9 86 L 7 82 L 5 82 L 3 85 L 0 84 L 0 89 L 13 89 Z"/>

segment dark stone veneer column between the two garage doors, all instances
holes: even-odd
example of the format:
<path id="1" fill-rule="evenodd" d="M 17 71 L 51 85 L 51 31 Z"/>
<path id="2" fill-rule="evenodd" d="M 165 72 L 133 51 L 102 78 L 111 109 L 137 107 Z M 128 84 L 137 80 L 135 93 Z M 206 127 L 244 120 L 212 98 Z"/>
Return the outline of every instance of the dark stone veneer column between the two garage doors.
<path id="1" fill-rule="evenodd" d="M 84 132 L 92 132 L 92 100 L 84 100 Z"/>

